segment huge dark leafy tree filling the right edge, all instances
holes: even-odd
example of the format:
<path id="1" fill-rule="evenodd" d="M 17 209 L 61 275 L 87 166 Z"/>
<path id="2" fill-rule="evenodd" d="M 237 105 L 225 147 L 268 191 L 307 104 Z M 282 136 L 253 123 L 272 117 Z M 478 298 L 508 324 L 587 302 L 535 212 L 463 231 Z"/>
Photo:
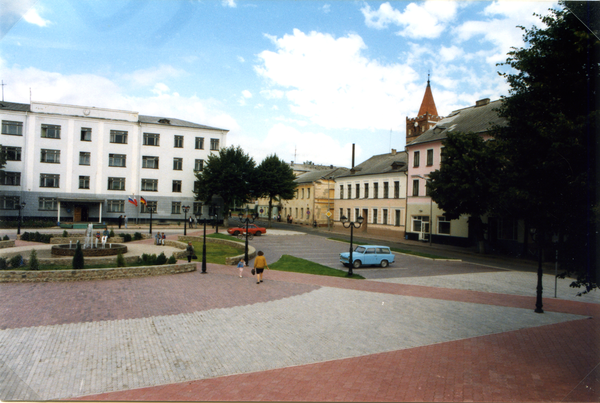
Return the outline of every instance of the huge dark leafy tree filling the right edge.
<path id="1" fill-rule="evenodd" d="M 513 70 L 501 73 L 510 84 L 499 111 L 508 125 L 496 135 L 514 214 L 541 240 L 559 234 L 561 267 L 587 289 L 597 281 L 590 223 L 597 223 L 600 41 L 570 9 L 592 15 L 592 3 L 563 2 L 569 8 L 541 17 L 545 27 L 521 27 L 527 46 L 501 64 Z"/>

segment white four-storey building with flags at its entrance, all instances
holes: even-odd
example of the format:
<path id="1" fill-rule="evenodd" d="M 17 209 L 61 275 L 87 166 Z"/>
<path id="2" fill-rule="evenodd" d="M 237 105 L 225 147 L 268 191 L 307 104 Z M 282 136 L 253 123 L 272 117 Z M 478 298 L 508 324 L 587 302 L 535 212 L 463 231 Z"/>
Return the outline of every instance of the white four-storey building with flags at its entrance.
<path id="1" fill-rule="evenodd" d="M 226 146 L 228 130 L 138 112 L 0 103 L 6 155 L 0 216 L 56 221 L 179 220 L 194 202 L 195 172 Z M 135 200 L 137 206 L 129 201 Z M 145 200 L 146 204 L 141 203 Z"/>

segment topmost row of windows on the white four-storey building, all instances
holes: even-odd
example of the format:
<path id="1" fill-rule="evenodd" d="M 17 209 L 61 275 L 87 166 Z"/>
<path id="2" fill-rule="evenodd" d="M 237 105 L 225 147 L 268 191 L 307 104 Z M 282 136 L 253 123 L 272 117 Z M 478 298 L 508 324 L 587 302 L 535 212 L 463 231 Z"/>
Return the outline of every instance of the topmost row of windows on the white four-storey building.
<path id="1" fill-rule="evenodd" d="M 47 125 L 42 124 L 41 126 L 41 137 L 48 139 L 60 139 L 61 127 L 59 125 Z M 23 135 L 23 122 L 14 122 L 3 120 L 2 121 L 2 134 L 8 134 L 13 136 Z M 123 130 L 111 130 L 110 131 L 110 142 L 115 144 L 127 144 L 128 132 Z M 92 129 L 90 127 L 81 128 L 81 141 L 92 141 Z M 173 147 L 183 148 L 183 136 L 175 135 L 173 139 Z M 213 151 L 219 150 L 219 139 L 210 139 L 210 149 Z M 160 145 L 160 134 L 159 133 L 144 133 L 143 144 L 145 146 L 159 146 Z M 196 137 L 194 140 L 194 148 L 196 150 L 204 150 L 204 137 Z"/>

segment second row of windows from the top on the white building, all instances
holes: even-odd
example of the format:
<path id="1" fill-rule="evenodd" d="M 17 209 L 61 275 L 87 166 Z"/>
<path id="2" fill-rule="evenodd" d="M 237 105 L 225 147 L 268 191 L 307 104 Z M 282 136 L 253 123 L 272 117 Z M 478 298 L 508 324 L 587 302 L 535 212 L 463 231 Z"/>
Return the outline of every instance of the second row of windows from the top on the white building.
<path id="1" fill-rule="evenodd" d="M 21 147 L 2 147 L 2 152 L 6 156 L 7 161 L 21 161 Z M 40 162 L 47 164 L 60 164 L 60 150 L 42 149 L 40 152 Z M 79 165 L 91 165 L 91 153 L 81 151 L 79 153 Z M 158 169 L 157 156 L 144 155 L 142 156 L 142 168 Z M 108 154 L 108 166 L 125 168 L 127 166 L 126 154 Z M 194 160 L 194 171 L 202 171 L 204 169 L 204 160 Z M 173 158 L 173 170 L 183 170 L 183 158 Z"/>

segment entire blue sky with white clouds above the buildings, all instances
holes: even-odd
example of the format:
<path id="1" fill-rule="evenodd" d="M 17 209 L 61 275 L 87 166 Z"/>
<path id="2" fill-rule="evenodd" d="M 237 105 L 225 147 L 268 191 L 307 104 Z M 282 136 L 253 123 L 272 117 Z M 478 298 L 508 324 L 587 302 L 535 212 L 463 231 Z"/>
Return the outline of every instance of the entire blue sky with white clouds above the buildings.
<path id="1" fill-rule="evenodd" d="M 518 26 L 549 1 L 0 0 L 8 102 L 136 111 L 229 130 L 259 164 L 351 166 L 438 113 L 508 95 Z"/>

